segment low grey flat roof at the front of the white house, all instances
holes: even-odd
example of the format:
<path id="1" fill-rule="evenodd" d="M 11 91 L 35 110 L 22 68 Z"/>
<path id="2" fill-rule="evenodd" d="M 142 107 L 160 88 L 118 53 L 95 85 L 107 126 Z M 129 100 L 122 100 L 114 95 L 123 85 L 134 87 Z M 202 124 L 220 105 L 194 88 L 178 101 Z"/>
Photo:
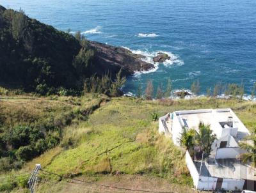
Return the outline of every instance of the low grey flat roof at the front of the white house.
<path id="1" fill-rule="evenodd" d="M 194 161 L 194 163 L 199 173 L 201 162 Z M 256 180 L 256 170 L 250 166 L 242 164 L 241 162 L 236 160 L 236 158 L 218 159 L 212 164 L 203 162 L 201 175 L 217 178 L 230 178 L 237 180 Z"/>

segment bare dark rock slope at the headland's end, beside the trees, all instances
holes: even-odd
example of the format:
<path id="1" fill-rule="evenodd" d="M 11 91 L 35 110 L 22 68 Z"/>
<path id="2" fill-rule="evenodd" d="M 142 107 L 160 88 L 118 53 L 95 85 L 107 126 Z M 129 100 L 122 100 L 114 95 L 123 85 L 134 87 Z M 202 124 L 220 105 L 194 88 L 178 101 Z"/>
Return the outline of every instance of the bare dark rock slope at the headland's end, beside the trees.
<path id="1" fill-rule="evenodd" d="M 99 42 L 89 41 L 89 43 L 96 50 L 94 60 L 100 74 L 102 72 L 115 74 L 122 68 L 124 75 L 132 75 L 134 72 L 147 71 L 154 68 L 153 64 L 141 60 L 145 59 L 145 56 L 134 54 L 131 50 Z"/>

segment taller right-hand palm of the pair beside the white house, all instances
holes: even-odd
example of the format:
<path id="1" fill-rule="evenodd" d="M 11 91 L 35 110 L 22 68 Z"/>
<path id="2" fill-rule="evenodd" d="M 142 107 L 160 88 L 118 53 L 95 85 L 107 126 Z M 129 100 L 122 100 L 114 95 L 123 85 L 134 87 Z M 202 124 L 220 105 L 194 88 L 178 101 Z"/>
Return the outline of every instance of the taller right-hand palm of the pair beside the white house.
<path id="1" fill-rule="evenodd" d="M 205 125 L 200 122 L 198 125 L 199 132 L 196 133 L 196 145 L 200 147 L 201 151 L 204 151 L 205 155 L 209 155 L 211 153 L 211 146 L 214 140 L 216 139 L 216 135 L 212 134 L 212 130 L 210 129 L 210 125 Z"/>

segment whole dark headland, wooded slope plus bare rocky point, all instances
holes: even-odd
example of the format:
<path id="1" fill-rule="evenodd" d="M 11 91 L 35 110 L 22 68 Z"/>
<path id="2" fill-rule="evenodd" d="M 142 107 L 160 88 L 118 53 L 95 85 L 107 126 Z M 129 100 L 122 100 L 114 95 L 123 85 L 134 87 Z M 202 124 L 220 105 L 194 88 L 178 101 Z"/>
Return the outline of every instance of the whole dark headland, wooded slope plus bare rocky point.
<path id="1" fill-rule="evenodd" d="M 88 44 L 93 56 L 87 56 L 86 50 L 81 52 L 83 45 L 74 36 L 0 6 L 0 86 L 29 91 L 79 88 L 83 79 L 95 74 L 115 77 L 120 68 L 124 75 L 154 68 L 141 60 L 143 56 L 122 47 Z M 77 56 L 79 63 L 74 64 Z"/>

